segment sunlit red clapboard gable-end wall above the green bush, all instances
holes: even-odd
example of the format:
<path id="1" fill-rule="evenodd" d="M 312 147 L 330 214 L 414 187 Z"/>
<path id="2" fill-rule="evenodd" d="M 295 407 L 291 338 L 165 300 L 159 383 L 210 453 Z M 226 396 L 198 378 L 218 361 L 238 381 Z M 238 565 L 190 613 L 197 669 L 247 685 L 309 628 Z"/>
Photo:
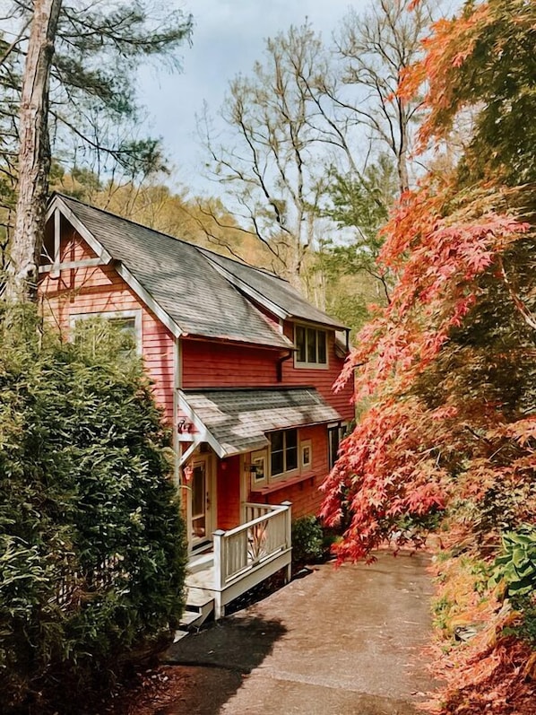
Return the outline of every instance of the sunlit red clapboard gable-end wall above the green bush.
<path id="1" fill-rule="evenodd" d="M 76 233 L 65 232 L 61 260 L 93 258 L 95 254 Z M 69 321 L 81 313 L 142 310 L 142 349 L 147 371 L 154 381 L 154 395 L 166 420 L 173 421 L 175 340 L 168 328 L 149 310 L 117 274 L 113 266 L 67 268 L 58 278 L 45 274 L 39 283 L 43 312 L 69 333 Z"/>

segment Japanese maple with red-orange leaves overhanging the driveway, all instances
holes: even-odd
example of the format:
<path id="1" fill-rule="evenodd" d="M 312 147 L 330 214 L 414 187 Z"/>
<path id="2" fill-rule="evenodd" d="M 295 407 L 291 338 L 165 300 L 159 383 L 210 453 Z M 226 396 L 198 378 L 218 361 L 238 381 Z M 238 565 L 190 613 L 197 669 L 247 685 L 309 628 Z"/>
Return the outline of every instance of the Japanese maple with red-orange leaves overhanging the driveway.
<path id="1" fill-rule="evenodd" d="M 324 521 L 347 525 L 340 560 L 370 558 L 385 539 L 419 543 L 452 501 L 504 496 L 495 517 L 504 510 L 512 523 L 526 511 L 501 484 L 526 485 L 536 467 L 533 192 L 516 181 L 536 169 L 513 166 L 518 138 L 497 157 L 487 134 L 489 116 L 506 122 L 512 106 L 494 94 L 499 40 L 532 27 L 530 4 L 515 2 L 518 22 L 505 0 L 490 0 L 437 23 L 426 57 L 402 78 L 401 92 L 426 87 L 423 149 L 440 153 L 466 107 L 480 113 L 460 161 L 429 170 L 385 227 L 380 266 L 397 282 L 338 380 L 355 372 L 359 420 L 323 485 Z M 493 510 L 485 516 L 493 530 Z"/>

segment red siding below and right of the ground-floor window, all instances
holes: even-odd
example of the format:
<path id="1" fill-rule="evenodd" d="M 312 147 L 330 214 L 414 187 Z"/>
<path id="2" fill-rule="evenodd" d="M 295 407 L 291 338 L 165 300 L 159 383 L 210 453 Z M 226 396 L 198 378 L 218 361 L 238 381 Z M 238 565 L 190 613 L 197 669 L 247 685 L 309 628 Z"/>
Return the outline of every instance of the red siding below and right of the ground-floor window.
<path id="1" fill-rule="evenodd" d="M 288 486 L 282 480 L 281 483 L 273 482 L 269 487 L 269 492 L 265 490 L 252 492 L 248 485 L 247 501 L 266 504 L 281 504 L 281 501 L 291 501 L 292 519 L 318 513 L 324 498 L 319 487 L 328 473 L 327 428 L 325 424 L 301 427 L 298 432 L 298 440 L 311 440 L 312 465 L 307 472 L 300 475 L 304 478 L 298 483 Z M 272 489 L 276 485 L 278 488 Z"/>

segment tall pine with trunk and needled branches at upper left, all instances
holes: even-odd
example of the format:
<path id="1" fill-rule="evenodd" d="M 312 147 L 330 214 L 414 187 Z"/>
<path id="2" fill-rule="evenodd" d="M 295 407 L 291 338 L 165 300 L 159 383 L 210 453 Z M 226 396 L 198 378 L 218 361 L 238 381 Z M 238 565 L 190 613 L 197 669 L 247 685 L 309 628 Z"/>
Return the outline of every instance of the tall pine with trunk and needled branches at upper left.
<path id="1" fill-rule="evenodd" d="M 137 118 L 136 62 L 159 57 L 176 64 L 191 22 L 181 11 L 137 1 L 103 10 L 64 0 L 30 6 L 11 0 L 8 13 L 15 39 L 0 37 L 0 200 L 8 231 L 14 224 L 6 270 L 13 301 L 35 297 L 51 145 L 56 155 L 67 146 L 96 153 L 99 169 L 111 159 L 133 177 L 161 169 L 158 142 L 117 136 L 117 128 L 125 121 L 134 126 Z"/>

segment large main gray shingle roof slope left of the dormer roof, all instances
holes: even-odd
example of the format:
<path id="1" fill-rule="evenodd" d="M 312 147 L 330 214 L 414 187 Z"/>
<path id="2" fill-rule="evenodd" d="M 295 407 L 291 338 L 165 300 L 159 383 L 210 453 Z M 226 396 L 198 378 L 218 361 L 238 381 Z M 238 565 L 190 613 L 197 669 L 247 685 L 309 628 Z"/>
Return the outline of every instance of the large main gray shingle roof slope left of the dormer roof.
<path id="1" fill-rule="evenodd" d="M 193 244 L 71 197 L 59 198 L 183 333 L 273 347 L 291 345 Z"/>

